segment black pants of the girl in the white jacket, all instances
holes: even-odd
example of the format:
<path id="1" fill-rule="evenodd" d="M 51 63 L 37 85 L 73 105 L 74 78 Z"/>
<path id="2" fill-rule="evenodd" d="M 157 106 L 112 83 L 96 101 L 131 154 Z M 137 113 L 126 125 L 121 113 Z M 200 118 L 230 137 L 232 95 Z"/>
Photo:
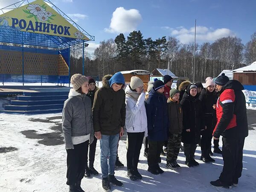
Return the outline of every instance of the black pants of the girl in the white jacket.
<path id="1" fill-rule="evenodd" d="M 126 154 L 127 169 L 137 169 L 140 149 L 143 143 L 145 132 L 140 133 L 127 133 L 128 136 L 128 149 Z"/>

